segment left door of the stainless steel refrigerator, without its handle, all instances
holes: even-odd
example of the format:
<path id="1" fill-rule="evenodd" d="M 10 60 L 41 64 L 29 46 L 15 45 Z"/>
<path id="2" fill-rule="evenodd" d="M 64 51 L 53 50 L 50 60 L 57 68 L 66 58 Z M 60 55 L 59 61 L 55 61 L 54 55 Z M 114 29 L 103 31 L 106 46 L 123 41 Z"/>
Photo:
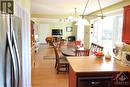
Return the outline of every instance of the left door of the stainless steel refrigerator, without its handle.
<path id="1" fill-rule="evenodd" d="M 6 53 L 6 32 L 8 31 L 8 16 L 0 14 L 0 87 L 5 87 L 5 55 Z M 7 56 L 8 58 L 10 55 Z M 8 65 L 10 62 L 8 62 Z M 8 68 L 9 69 L 9 68 Z M 8 70 L 9 71 L 9 70 Z M 9 73 L 10 74 L 10 73 Z M 8 75 L 9 75 L 8 74 Z M 10 77 L 8 76 L 8 80 Z"/>

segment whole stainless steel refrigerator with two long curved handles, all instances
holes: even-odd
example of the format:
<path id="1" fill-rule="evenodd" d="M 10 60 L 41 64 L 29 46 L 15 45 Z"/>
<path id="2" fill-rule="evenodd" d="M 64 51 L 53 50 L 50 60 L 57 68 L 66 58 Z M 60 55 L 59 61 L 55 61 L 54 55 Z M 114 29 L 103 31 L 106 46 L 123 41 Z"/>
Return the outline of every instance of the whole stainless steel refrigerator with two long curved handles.
<path id="1" fill-rule="evenodd" d="M 21 20 L 0 14 L 0 87 L 21 87 Z"/>

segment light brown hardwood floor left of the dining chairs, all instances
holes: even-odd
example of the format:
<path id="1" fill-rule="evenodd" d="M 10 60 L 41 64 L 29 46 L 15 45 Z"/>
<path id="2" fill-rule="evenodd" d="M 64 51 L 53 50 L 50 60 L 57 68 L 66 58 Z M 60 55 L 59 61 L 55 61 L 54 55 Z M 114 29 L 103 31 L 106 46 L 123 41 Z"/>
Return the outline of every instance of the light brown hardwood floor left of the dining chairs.
<path id="1" fill-rule="evenodd" d="M 68 74 L 56 74 L 53 48 L 40 46 L 32 52 L 32 87 L 68 87 Z"/>

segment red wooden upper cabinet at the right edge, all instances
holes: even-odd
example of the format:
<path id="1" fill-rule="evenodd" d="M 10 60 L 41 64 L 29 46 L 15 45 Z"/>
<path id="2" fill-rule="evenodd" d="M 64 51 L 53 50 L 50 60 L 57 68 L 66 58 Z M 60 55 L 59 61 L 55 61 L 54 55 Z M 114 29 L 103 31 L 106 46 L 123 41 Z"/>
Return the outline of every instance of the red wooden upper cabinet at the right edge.
<path id="1" fill-rule="evenodd" d="M 130 5 L 124 7 L 122 41 L 130 44 Z"/>

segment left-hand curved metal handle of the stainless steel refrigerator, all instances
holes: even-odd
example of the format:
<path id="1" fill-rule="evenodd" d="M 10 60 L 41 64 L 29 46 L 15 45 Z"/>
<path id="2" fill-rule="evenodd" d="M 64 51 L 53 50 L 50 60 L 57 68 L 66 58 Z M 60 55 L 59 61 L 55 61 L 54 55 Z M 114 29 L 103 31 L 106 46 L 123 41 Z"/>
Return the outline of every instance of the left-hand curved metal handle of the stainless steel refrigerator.
<path id="1" fill-rule="evenodd" d="M 13 73 L 14 73 L 14 75 L 13 75 L 13 79 L 14 79 L 14 81 L 13 81 L 13 87 L 18 87 L 18 86 L 16 86 L 16 63 L 15 63 L 15 56 L 14 56 L 14 52 L 13 52 L 13 47 L 12 47 L 12 43 L 11 43 L 11 38 L 10 38 L 10 33 L 9 32 L 7 32 L 7 40 L 8 40 L 8 46 L 9 46 L 9 51 L 10 51 L 10 54 L 11 54 L 11 60 L 12 60 L 12 66 L 13 66 Z"/>

